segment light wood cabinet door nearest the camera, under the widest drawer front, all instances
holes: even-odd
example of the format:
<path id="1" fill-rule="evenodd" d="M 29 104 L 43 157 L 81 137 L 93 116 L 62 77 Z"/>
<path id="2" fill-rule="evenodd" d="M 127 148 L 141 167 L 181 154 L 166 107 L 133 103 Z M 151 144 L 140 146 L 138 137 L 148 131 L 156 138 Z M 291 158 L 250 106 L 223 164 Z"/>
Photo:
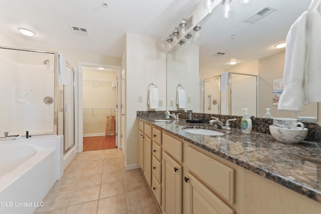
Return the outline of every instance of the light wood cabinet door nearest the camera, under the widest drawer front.
<path id="1" fill-rule="evenodd" d="M 234 214 L 235 211 L 201 181 L 187 172 L 184 176 L 184 213 Z"/>

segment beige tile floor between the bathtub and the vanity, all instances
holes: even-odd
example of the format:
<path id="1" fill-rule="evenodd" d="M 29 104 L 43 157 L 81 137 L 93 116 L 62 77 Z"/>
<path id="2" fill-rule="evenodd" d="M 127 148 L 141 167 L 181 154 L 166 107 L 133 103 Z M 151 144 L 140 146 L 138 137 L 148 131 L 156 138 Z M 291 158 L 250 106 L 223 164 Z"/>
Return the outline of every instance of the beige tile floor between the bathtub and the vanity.
<path id="1" fill-rule="evenodd" d="M 141 170 L 125 170 L 121 149 L 78 153 L 44 204 L 35 213 L 160 213 Z"/>

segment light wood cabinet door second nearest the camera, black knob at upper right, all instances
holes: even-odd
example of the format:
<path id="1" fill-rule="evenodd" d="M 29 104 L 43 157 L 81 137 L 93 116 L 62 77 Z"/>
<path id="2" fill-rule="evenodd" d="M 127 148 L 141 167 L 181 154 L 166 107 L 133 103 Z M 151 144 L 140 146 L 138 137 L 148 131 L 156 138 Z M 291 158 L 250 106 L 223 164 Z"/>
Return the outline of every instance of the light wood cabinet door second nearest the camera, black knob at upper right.
<path id="1" fill-rule="evenodd" d="M 182 213 L 183 167 L 163 152 L 163 213 Z"/>

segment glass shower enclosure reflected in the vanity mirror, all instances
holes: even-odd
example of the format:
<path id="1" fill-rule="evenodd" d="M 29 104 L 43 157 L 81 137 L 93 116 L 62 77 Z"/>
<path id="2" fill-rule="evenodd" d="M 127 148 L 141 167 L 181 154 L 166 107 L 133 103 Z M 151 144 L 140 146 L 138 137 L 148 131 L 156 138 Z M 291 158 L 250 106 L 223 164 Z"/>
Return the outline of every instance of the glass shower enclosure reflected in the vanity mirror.
<path id="1" fill-rule="evenodd" d="M 257 116 L 257 75 L 226 72 L 202 80 L 204 113 Z"/>

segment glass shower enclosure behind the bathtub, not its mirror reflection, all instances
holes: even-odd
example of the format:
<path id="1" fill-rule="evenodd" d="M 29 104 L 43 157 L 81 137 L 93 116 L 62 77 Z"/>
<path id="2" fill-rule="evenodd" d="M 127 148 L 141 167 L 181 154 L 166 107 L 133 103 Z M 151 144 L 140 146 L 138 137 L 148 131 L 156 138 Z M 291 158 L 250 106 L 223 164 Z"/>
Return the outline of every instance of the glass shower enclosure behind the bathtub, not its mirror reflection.
<path id="1" fill-rule="evenodd" d="M 74 69 L 67 84 L 58 75 L 58 53 L 0 47 L 0 137 L 64 135 L 64 152 L 74 138 Z"/>

